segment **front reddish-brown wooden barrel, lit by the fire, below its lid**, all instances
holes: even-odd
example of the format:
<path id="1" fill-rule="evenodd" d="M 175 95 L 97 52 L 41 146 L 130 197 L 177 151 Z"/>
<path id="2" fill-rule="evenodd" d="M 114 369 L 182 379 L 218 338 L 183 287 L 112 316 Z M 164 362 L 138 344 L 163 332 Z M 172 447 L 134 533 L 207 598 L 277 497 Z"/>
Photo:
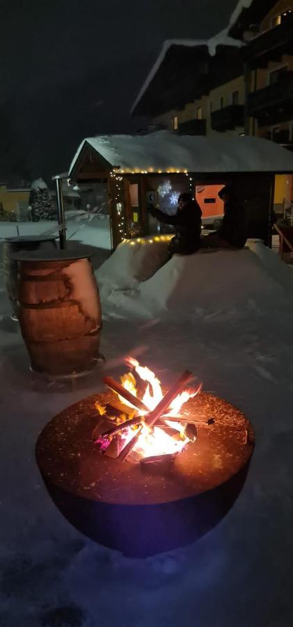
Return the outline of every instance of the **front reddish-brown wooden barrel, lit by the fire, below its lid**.
<path id="1" fill-rule="evenodd" d="M 88 372 L 100 356 L 102 325 L 90 258 L 66 258 L 70 251 L 60 250 L 53 259 L 45 251 L 29 261 L 19 256 L 19 325 L 31 369 L 53 378 Z"/>

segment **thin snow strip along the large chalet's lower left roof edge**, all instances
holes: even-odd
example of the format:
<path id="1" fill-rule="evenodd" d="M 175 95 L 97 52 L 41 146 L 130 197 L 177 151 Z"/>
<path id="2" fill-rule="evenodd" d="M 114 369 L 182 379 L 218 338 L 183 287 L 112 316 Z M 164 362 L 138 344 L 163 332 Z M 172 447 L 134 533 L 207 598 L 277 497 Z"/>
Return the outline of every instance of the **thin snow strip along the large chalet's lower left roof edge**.
<path id="1" fill-rule="evenodd" d="M 145 82 L 143 83 L 143 86 L 141 87 L 141 90 L 139 91 L 136 97 L 136 100 L 132 106 L 130 113 L 131 114 L 133 113 L 134 109 L 136 108 L 136 105 L 141 100 L 145 91 L 148 89 L 148 86 L 150 85 L 150 83 L 152 82 L 152 79 L 157 74 L 157 71 L 159 70 L 161 63 L 164 61 L 165 56 L 168 52 L 168 49 L 171 48 L 171 46 L 187 46 L 187 47 L 207 46 L 210 56 L 214 56 L 216 54 L 216 47 L 218 45 L 227 45 L 227 46 L 234 46 L 234 47 L 239 48 L 245 44 L 239 39 L 233 39 L 232 37 L 228 36 L 228 28 L 224 29 L 223 31 L 220 31 L 214 37 L 211 37 L 209 39 L 166 39 L 164 41 L 161 52 L 159 56 L 157 57 L 157 60 L 152 66 L 150 73 L 146 77 Z"/>

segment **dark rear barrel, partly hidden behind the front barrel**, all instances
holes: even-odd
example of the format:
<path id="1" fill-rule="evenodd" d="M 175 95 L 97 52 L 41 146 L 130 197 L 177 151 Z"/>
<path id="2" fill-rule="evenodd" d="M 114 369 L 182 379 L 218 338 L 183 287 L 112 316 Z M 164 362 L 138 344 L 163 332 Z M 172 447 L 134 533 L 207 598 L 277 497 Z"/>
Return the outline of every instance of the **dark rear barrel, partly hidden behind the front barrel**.
<path id="1" fill-rule="evenodd" d="M 3 241 L 3 270 L 8 298 L 13 309 L 13 318 L 17 320 L 17 261 L 11 254 L 20 250 L 37 250 L 56 248 L 56 236 L 28 235 L 18 238 L 6 238 Z"/>

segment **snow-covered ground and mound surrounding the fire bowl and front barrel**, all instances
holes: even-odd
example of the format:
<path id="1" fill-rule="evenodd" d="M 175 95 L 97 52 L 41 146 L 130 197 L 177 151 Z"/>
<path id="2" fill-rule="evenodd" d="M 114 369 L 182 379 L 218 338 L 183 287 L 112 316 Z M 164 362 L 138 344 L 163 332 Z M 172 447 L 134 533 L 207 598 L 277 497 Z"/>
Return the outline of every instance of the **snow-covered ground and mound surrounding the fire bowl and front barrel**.
<path id="1" fill-rule="evenodd" d="M 29 372 L 1 285 L 1 626 L 292 624 L 292 270 L 259 242 L 250 242 L 248 251 L 198 255 L 198 263 L 196 255 L 184 263 L 174 257 L 151 277 L 164 253 L 161 242 L 156 246 L 157 254 L 151 245 L 145 245 L 148 254 L 136 249 L 132 275 L 128 270 L 123 277 L 122 265 L 131 264 L 125 252 L 123 264 L 119 261 L 119 250 L 97 270 L 107 314 L 106 364 L 72 385 L 48 384 Z M 132 249 L 135 245 L 128 249 L 134 255 Z M 165 278 L 158 284 L 160 273 Z M 147 315 L 141 296 L 146 288 Z M 156 289 L 153 313 L 150 297 Z M 34 459 L 47 421 L 101 390 L 104 369 L 116 377 L 122 373 L 122 358 L 129 353 L 140 355 L 166 385 L 191 369 L 205 390 L 246 413 L 256 435 L 246 484 L 221 524 L 187 548 L 142 560 L 96 545 L 70 527 Z"/>

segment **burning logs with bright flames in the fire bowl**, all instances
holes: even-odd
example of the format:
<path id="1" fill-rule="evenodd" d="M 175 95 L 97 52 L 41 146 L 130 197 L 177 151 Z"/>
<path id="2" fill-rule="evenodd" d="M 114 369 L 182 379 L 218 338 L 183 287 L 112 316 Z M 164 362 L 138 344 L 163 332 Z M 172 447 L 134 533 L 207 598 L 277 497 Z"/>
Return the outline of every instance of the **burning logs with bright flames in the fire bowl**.
<path id="1" fill-rule="evenodd" d="M 105 377 L 106 385 L 118 394 L 121 409 L 117 412 L 116 408 L 114 412 L 109 405 L 105 408 L 96 405 L 105 425 L 109 426 L 111 419 L 113 426 L 103 432 L 98 425 L 97 431 L 95 429 L 93 433 L 93 439 L 106 456 L 132 462 L 139 462 L 145 458 L 148 461 L 155 458 L 158 462 L 164 460 L 164 456 L 168 456 L 169 460 L 175 458 L 189 442 L 196 439 L 196 429 L 190 428 L 188 420 L 180 414 L 180 410 L 189 398 L 200 392 L 201 385 L 196 389 L 187 388 L 193 376 L 189 371 L 185 371 L 164 396 L 161 382 L 154 372 L 146 366 L 141 366 L 132 357 L 127 357 L 126 363 L 135 371 L 138 378 L 146 383 L 143 397 L 138 396 L 138 384 L 133 372 L 123 375 L 121 383 L 111 377 Z M 134 410 L 134 415 L 125 419 L 129 407 Z M 97 438 L 95 433 L 98 433 Z"/>

